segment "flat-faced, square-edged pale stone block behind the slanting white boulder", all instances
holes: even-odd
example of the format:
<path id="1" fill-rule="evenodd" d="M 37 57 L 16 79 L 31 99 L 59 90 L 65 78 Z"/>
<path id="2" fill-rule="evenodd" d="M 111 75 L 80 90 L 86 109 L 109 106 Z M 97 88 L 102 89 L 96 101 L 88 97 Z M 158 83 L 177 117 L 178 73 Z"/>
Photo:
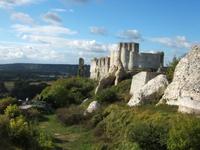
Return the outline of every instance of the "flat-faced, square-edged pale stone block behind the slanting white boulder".
<path id="1" fill-rule="evenodd" d="M 130 94 L 137 93 L 149 80 L 156 77 L 157 73 L 142 71 L 132 77 Z"/>

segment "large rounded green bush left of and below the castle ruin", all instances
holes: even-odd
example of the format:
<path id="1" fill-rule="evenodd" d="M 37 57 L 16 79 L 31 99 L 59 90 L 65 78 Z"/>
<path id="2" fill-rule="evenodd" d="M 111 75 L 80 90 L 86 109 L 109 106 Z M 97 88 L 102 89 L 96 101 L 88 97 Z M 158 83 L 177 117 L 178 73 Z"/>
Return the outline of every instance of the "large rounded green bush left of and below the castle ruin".
<path id="1" fill-rule="evenodd" d="M 80 104 L 85 98 L 92 96 L 95 83 L 86 78 L 68 78 L 56 81 L 45 88 L 39 99 L 51 104 L 54 108 Z"/>

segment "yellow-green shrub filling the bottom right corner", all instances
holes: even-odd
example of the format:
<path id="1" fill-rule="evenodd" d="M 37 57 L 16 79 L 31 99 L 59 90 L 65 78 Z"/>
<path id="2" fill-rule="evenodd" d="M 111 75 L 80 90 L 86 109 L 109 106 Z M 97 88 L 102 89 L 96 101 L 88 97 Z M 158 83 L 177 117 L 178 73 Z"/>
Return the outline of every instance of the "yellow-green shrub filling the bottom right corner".
<path id="1" fill-rule="evenodd" d="M 200 120 L 192 117 L 179 117 L 173 122 L 167 141 L 169 150 L 199 150 Z"/>

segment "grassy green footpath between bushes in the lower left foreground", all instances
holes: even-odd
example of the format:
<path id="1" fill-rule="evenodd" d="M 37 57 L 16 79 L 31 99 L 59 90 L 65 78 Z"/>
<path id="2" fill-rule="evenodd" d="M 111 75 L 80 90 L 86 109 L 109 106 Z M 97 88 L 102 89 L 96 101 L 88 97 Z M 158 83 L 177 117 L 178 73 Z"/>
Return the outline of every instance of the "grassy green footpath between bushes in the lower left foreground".
<path id="1" fill-rule="evenodd" d="M 39 127 L 51 134 L 58 150 L 92 150 L 95 148 L 93 132 L 81 125 L 65 126 L 56 115 L 45 116 Z"/>

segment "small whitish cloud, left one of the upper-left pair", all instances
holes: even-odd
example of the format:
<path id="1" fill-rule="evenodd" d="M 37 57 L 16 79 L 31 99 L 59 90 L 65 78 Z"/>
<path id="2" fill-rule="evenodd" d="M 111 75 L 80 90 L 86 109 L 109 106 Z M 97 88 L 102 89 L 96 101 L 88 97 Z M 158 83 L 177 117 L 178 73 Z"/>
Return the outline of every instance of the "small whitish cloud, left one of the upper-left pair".
<path id="1" fill-rule="evenodd" d="M 22 12 L 14 12 L 13 14 L 11 14 L 11 20 L 13 21 L 17 21 L 20 23 L 24 23 L 24 24 L 33 24 L 34 20 L 25 13 Z"/>

